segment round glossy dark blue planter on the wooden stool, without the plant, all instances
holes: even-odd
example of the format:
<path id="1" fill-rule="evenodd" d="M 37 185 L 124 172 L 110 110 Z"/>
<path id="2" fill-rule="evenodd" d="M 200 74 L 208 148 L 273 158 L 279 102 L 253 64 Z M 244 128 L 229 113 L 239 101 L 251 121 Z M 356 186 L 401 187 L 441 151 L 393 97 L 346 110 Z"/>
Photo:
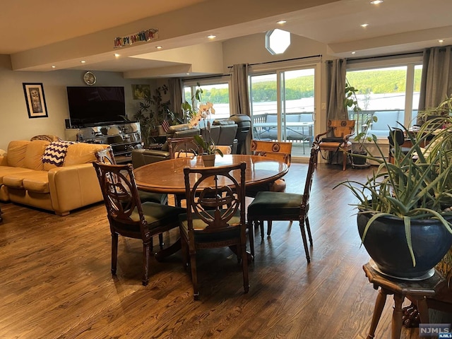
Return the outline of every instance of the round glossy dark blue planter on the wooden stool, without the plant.
<path id="1" fill-rule="evenodd" d="M 358 214 L 360 237 L 370 218 L 371 215 Z M 411 220 L 411 240 L 416 266 L 412 265 L 405 227 L 399 218 L 375 220 L 367 231 L 364 247 L 383 274 L 410 280 L 428 278 L 451 248 L 452 234 L 438 220 Z"/>

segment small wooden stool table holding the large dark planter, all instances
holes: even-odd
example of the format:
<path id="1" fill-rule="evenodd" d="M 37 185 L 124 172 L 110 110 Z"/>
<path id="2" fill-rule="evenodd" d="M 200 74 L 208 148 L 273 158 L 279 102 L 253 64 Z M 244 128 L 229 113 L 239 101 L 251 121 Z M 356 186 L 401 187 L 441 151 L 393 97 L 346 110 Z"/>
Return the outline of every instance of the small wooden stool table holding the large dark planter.
<path id="1" fill-rule="evenodd" d="M 394 311 L 391 325 L 391 339 L 400 339 L 402 330 L 402 304 L 405 297 L 415 302 L 420 313 L 421 323 L 429 323 L 429 311 L 427 297 L 433 297 L 445 283 L 444 278 L 436 270 L 431 278 L 425 280 L 399 280 L 390 278 L 375 270 L 370 263 L 362 266 L 364 273 L 369 278 L 369 283 L 374 284 L 374 289 L 379 290 L 376 297 L 374 316 L 369 329 L 367 339 L 375 338 L 376 326 L 379 323 L 381 312 L 386 303 L 386 295 L 394 296 Z"/>

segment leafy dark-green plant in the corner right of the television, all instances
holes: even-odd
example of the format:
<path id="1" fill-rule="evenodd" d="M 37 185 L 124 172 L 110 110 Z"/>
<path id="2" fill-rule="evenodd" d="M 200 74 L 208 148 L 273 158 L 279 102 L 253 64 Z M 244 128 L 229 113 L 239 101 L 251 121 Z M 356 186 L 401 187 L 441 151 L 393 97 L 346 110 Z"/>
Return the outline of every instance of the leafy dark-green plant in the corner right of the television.
<path id="1" fill-rule="evenodd" d="M 145 147 L 153 143 L 154 137 L 165 134 L 161 128 L 163 121 L 170 125 L 176 122 L 174 113 L 169 109 L 169 100 L 163 101 L 162 95 L 168 91 L 167 85 L 155 88 L 154 93 L 145 93 L 144 100 L 140 102 L 133 119 L 140 123 L 141 139 Z"/>

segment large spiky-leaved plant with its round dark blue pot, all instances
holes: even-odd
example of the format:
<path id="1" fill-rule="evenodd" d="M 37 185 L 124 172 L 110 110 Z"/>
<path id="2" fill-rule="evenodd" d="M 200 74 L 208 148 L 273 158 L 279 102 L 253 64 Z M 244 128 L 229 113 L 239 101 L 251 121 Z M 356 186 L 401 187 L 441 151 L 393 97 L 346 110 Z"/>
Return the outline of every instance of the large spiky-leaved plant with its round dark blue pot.
<path id="1" fill-rule="evenodd" d="M 381 158 L 367 181 L 342 182 L 357 197 L 357 223 L 371 264 L 381 273 L 424 279 L 434 273 L 452 244 L 452 119 L 427 121 L 404 155 L 395 145 L 394 163 Z M 436 125 L 435 125 L 436 123 Z M 401 126 L 403 128 L 403 126 Z M 338 186 L 339 186 L 338 185 Z M 337 186 L 336 186 L 337 187 Z"/>

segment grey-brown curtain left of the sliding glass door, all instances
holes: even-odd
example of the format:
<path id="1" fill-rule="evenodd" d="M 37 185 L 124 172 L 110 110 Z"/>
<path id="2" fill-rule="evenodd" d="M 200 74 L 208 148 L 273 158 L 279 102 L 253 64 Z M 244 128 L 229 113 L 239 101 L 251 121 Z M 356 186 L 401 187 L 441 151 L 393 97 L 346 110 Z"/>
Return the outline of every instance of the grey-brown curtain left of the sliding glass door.
<path id="1" fill-rule="evenodd" d="M 246 64 L 232 66 L 232 112 L 251 116 L 248 95 L 248 65 Z M 246 136 L 246 141 L 241 147 L 242 154 L 251 154 L 252 128 L 251 119 L 250 133 Z"/>

